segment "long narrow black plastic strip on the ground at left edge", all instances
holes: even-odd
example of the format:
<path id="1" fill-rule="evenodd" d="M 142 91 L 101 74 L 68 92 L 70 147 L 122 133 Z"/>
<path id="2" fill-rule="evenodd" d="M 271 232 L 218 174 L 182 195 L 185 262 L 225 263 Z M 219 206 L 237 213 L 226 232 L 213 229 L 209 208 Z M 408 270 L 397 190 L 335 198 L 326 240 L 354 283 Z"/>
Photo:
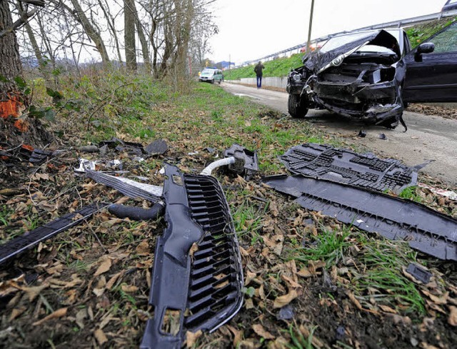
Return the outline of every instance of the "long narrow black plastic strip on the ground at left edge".
<path id="1" fill-rule="evenodd" d="M 58 233 L 79 225 L 94 213 L 108 205 L 108 203 L 92 203 L 89 206 L 81 208 L 79 211 L 67 213 L 64 216 L 47 223 L 45 226 L 36 228 L 33 231 L 28 231 L 27 233 L 8 241 L 0 246 L 0 264 L 8 261 L 22 251 L 26 251 L 27 249 L 36 246 L 36 244 L 41 241 L 45 241 Z"/>

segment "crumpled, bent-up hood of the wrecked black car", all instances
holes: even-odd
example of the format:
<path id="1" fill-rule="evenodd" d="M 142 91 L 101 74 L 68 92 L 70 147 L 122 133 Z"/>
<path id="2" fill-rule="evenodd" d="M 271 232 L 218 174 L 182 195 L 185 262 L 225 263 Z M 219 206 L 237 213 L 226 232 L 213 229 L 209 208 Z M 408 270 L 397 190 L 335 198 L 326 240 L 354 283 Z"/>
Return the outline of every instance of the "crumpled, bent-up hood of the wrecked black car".
<path id="1" fill-rule="evenodd" d="M 378 31 L 370 31 L 366 33 L 366 36 L 362 36 L 359 39 L 348 42 L 347 44 L 339 46 L 334 50 L 327 52 L 317 51 L 309 56 L 308 61 L 305 62 L 305 66 L 314 73 L 321 73 L 333 65 L 339 65 L 332 64 L 334 59 L 340 57 L 338 61 L 341 64 L 343 59 L 357 51 L 361 46 L 367 44 L 386 47 L 394 51 L 398 57 L 401 56 L 400 47 L 395 36 L 381 29 Z M 325 47 L 325 45 L 323 47 Z"/>

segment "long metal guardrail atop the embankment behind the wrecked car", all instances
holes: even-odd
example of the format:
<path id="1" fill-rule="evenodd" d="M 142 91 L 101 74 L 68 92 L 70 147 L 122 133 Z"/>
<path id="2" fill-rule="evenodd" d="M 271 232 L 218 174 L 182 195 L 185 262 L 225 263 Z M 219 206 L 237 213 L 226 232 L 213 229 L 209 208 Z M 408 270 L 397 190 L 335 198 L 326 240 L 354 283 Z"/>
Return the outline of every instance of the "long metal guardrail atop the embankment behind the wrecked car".
<path id="1" fill-rule="evenodd" d="M 384 29 L 384 28 L 400 28 L 401 26 L 408 26 L 411 24 L 418 24 L 421 22 L 427 22 L 427 21 L 433 21 L 436 19 L 442 19 L 446 17 L 452 17 L 452 16 L 457 16 L 457 10 L 451 10 L 451 11 L 445 11 L 445 12 L 438 12 L 436 14 L 427 14 L 425 16 L 417 16 L 417 17 L 412 17 L 408 19 L 401 19 L 399 21 L 391 21 L 391 22 L 386 22 L 386 23 L 381 23 L 381 24 L 375 24 L 373 26 L 363 26 L 362 28 L 354 29 L 351 31 L 340 31 L 335 34 L 329 34 L 326 36 L 321 36 L 320 38 L 313 39 L 311 40 L 311 44 L 316 44 L 321 41 L 327 41 L 333 36 L 344 34 L 344 33 L 349 33 L 353 31 L 364 31 L 364 30 L 371 30 L 371 29 Z M 249 64 L 256 63 L 258 61 L 270 61 L 271 59 L 275 59 L 278 56 L 281 56 L 283 54 L 290 54 L 291 52 L 298 51 L 303 48 L 303 46 L 306 47 L 306 42 L 303 44 L 299 44 L 293 47 L 289 47 L 288 49 L 278 51 L 275 54 L 269 54 L 268 56 L 261 57 L 259 59 L 253 59 L 251 61 L 244 61 L 241 64 L 238 64 L 238 66 L 234 66 L 233 68 L 238 68 L 240 66 L 248 66 Z"/>

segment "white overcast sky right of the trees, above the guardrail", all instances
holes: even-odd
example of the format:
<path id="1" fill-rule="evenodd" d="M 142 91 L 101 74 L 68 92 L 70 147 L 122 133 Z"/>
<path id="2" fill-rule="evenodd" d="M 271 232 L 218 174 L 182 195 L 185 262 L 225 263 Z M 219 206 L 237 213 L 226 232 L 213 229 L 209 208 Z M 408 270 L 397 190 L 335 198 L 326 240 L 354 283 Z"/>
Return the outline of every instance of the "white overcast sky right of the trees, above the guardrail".
<path id="1" fill-rule="evenodd" d="M 446 0 L 315 0 L 311 39 L 441 11 Z M 210 59 L 240 64 L 306 42 L 311 0 L 216 0 Z"/>

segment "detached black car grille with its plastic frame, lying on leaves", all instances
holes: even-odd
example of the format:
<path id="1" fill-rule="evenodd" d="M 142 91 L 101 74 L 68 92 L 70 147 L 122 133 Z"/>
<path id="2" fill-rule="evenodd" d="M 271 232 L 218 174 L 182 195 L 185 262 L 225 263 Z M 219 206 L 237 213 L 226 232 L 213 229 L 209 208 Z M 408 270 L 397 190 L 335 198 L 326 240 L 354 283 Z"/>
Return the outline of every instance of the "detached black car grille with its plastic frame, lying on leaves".
<path id="1" fill-rule="evenodd" d="M 186 331 L 215 330 L 243 301 L 243 272 L 229 206 L 218 181 L 166 166 L 167 228 L 158 238 L 141 348 L 181 348 Z M 196 248 L 198 247 L 198 248 Z"/>

